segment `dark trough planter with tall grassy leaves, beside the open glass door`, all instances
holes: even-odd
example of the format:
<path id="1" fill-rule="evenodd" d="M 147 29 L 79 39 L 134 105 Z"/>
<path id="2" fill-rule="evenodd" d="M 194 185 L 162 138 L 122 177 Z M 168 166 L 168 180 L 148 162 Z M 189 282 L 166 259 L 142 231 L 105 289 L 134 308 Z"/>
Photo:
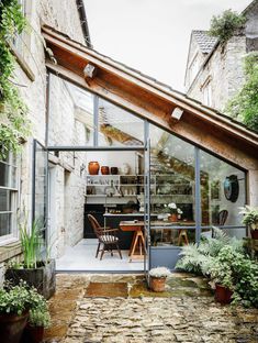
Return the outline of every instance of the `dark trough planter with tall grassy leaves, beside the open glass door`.
<path id="1" fill-rule="evenodd" d="M 20 225 L 20 239 L 23 252 L 23 263 L 8 266 L 5 279 L 19 284 L 23 279 L 46 299 L 49 299 L 56 289 L 55 259 L 43 257 L 44 240 L 41 235 L 40 224 L 33 222 L 29 233 L 26 221 Z M 47 255 L 47 254 L 46 254 Z"/>

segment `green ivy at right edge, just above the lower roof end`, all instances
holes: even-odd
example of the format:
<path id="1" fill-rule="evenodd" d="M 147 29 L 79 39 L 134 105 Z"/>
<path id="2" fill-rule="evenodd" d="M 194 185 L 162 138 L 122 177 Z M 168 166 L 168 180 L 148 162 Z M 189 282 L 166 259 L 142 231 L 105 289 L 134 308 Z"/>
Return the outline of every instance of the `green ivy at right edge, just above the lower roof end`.
<path id="1" fill-rule="evenodd" d="M 226 112 L 258 132 L 258 53 L 244 59 L 246 81 L 239 92 L 228 102 Z"/>

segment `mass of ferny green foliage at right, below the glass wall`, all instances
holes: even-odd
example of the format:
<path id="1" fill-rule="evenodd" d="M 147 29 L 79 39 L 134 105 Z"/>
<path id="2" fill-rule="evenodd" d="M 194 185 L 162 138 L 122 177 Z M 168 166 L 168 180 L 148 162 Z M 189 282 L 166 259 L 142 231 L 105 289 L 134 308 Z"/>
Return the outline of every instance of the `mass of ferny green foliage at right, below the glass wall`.
<path id="1" fill-rule="evenodd" d="M 209 277 L 233 291 L 233 303 L 258 307 L 258 264 L 243 247 L 243 241 L 231 239 L 220 229 L 215 236 L 199 245 L 186 245 L 177 268 Z"/>

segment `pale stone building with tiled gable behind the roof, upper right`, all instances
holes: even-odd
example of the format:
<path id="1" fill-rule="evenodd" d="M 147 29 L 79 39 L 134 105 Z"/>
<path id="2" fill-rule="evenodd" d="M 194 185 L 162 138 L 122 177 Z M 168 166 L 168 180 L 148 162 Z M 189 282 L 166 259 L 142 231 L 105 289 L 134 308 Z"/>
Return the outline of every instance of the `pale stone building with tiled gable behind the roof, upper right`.
<path id="1" fill-rule="evenodd" d="M 244 82 L 244 56 L 258 49 L 258 1 L 253 1 L 243 14 L 247 20 L 245 29 L 224 45 L 206 31 L 192 31 L 190 38 L 187 95 L 220 111 Z"/>

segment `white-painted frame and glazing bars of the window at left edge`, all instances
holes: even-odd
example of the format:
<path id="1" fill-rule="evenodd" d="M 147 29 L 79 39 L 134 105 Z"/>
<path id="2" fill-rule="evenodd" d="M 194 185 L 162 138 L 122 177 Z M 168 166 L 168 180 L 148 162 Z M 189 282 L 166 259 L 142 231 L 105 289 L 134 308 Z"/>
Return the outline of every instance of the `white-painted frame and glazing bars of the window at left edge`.
<path id="1" fill-rule="evenodd" d="M 16 214 L 18 214 L 18 201 L 19 201 L 19 167 L 18 167 L 18 159 L 14 163 L 13 154 L 9 154 L 7 161 L 0 161 L 1 164 L 7 165 L 10 167 L 9 176 L 8 176 L 8 186 L 1 186 L 0 189 L 10 190 L 11 193 L 11 209 L 10 211 L 0 211 L 0 214 L 9 214 L 11 213 L 11 228 L 10 233 L 5 235 L 0 235 L 0 245 L 4 245 L 11 243 L 13 241 L 18 241 L 18 223 L 16 223 Z M 1 165 L 0 165 L 1 168 Z M 15 168 L 15 187 L 13 188 L 11 185 L 12 179 L 12 169 Z"/>

